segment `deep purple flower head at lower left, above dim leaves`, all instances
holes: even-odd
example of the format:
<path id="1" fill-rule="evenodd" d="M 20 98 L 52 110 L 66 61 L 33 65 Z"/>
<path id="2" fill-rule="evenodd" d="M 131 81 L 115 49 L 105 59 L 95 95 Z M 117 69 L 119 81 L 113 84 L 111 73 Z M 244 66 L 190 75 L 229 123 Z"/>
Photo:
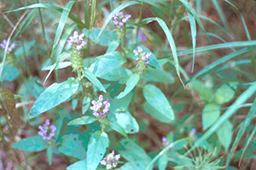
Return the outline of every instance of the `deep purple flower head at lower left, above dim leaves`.
<path id="1" fill-rule="evenodd" d="M 55 135 L 56 127 L 55 125 L 49 126 L 49 119 L 46 119 L 44 125 L 40 125 L 38 128 L 40 129 L 38 134 L 42 136 L 44 140 L 50 140 Z"/>

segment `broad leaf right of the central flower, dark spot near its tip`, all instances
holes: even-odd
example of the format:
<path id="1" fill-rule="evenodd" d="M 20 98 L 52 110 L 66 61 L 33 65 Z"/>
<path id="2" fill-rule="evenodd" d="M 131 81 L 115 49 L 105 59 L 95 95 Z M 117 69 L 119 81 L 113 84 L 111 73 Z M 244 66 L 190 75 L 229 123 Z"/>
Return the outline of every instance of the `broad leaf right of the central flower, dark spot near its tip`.
<path id="1" fill-rule="evenodd" d="M 129 111 L 116 110 L 114 113 L 116 122 L 125 129 L 126 133 L 138 133 L 139 126 L 136 119 Z"/>

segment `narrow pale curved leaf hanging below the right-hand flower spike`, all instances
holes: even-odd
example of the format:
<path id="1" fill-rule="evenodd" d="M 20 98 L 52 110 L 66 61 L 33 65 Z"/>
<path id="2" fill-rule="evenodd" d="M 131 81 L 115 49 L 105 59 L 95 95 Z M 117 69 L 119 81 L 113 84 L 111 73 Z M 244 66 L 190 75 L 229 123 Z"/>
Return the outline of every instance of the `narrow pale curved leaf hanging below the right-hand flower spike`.
<path id="1" fill-rule="evenodd" d="M 131 75 L 131 77 L 129 77 L 129 79 L 126 82 L 126 87 L 124 92 L 121 92 L 117 99 L 121 99 L 123 97 L 125 97 L 126 94 L 129 94 L 131 92 L 131 90 L 137 85 L 137 82 L 139 82 L 140 80 L 140 75 L 139 74 L 133 74 Z"/>

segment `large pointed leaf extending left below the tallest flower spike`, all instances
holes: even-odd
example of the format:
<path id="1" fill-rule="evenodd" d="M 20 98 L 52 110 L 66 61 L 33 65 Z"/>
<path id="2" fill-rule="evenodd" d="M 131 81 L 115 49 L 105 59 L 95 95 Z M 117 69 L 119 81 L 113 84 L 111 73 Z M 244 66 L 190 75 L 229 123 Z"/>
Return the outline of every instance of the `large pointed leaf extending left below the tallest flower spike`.
<path id="1" fill-rule="evenodd" d="M 32 109 L 29 112 L 29 116 L 35 117 L 44 111 L 60 105 L 62 102 L 69 99 L 79 89 L 79 81 L 70 77 L 66 82 L 54 83 L 49 88 L 46 88 L 44 92 L 38 97 Z"/>

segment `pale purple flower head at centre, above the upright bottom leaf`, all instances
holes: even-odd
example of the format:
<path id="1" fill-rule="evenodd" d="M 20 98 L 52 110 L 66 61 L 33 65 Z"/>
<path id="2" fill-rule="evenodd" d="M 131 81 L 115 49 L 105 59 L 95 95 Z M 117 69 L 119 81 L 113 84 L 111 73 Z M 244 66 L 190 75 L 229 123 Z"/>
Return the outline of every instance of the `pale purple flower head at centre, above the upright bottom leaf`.
<path id="1" fill-rule="evenodd" d="M 90 110 L 93 111 L 93 115 L 97 117 L 98 120 L 104 120 L 107 118 L 107 114 L 109 113 L 108 107 L 110 104 L 108 103 L 108 99 L 106 101 L 103 101 L 103 96 L 100 95 L 99 99 L 93 100 L 91 102 L 93 106 L 90 107 Z"/>

